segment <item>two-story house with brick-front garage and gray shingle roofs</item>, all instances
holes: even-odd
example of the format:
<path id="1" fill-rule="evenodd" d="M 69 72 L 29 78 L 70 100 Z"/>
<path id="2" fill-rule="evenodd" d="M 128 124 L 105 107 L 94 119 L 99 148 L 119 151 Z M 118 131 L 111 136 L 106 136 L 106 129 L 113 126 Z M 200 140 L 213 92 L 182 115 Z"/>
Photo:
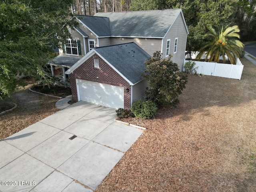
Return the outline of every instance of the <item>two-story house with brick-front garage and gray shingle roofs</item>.
<path id="1" fill-rule="evenodd" d="M 144 96 L 144 61 L 156 51 L 183 68 L 188 29 L 181 9 L 77 15 L 72 39 L 49 62 L 69 78 L 73 100 L 130 108 Z"/>

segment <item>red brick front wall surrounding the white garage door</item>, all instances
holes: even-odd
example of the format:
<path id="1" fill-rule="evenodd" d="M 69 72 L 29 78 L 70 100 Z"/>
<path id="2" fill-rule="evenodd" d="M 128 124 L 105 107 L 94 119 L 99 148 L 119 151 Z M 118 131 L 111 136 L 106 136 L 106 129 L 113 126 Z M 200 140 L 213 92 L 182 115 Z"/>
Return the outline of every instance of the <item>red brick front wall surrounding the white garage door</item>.
<path id="1" fill-rule="evenodd" d="M 94 68 L 94 59 L 99 60 L 100 68 Z M 98 77 L 98 78 L 97 78 Z M 92 82 L 104 83 L 124 88 L 124 108 L 131 107 L 131 86 L 124 80 L 114 69 L 112 69 L 102 58 L 97 54 L 91 56 L 86 62 L 80 65 L 70 74 L 70 83 L 72 89 L 72 98 L 78 101 L 76 90 L 76 79 L 82 79 Z M 126 89 L 129 88 L 129 92 Z"/>

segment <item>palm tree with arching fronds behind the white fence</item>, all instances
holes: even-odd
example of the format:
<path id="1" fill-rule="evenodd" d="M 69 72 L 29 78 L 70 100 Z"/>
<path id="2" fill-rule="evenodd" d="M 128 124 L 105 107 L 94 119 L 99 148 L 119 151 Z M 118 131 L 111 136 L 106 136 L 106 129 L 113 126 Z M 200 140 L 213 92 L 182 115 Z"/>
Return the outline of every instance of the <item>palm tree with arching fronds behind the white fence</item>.
<path id="1" fill-rule="evenodd" d="M 204 52 L 207 52 L 205 60 L 208 60 L 209 57 L 209 62 L 218 62 L 220 60 L 220 56 L 222 56 L 223 63 L 225 63 L 226 54 L 231 64 L 235 64 L 236 57 L 239 58 L 239 54 L 244 48 L 244 44 L 238 40 L 240 38 L 240 35 L 238 34 L 240 29 L 238 26 L 222 26 L 221 28 L 218 28 L 218 32 L 216 32 L 216 30 L 212 27 L 208 28 L 208 30 L 209 32 L 206 33 L 205 36 L 209 41 L 202 46 L 202 48 L 200 48 L 196 59 L 200 60 L 200 58 L 204 55 Z"/>

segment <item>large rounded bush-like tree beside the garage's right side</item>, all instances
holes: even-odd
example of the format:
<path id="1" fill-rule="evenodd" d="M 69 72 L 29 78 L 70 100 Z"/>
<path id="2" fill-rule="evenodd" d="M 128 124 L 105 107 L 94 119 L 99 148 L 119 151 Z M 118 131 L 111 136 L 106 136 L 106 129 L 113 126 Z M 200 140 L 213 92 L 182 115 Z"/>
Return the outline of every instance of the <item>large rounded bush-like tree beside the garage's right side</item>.
<path id="1" fill-rule="evenodd" d="M 146 90 L 146 99 L 158 105 L 175 106 L 178 104 L 178 95 L 182 93 L 188 81 L 185 73 L 180 72 L 171 56 L 163 59 L 160 52 L 155 52 L 152 58 L 146 60 L 146 70 L 142 77 L 149 81 Z"/>

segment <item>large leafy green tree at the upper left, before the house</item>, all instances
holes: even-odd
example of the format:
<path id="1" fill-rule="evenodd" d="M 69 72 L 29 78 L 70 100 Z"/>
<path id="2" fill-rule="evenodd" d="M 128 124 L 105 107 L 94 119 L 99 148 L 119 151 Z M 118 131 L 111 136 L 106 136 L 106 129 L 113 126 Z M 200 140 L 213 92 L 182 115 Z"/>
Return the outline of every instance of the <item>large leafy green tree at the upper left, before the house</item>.
<path id="1" fill-rule="evenodd" d="M 2 0 L 0 2 L 0 99 L 22 85 L 18 74 L 47 81 L 45 71 L 53 47 L 60 46 L 76 25 L 70 12 L 73 0 Z M 58 36 L 58 38 L 57 38 Z"/>

